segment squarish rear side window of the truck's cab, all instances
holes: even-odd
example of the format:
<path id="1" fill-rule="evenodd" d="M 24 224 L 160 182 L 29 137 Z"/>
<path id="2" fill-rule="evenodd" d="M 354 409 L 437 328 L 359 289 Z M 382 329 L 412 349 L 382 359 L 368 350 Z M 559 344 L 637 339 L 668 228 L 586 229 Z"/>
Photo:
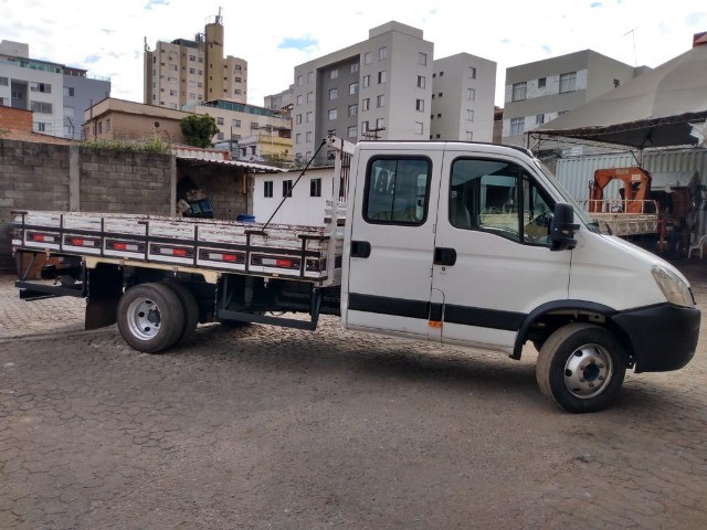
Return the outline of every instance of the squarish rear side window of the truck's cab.
<path id="1" fill-rule="evenodd" d="M 373 159 L 366 176 L 363 219 L 421 225 L 428 218 L 432 165 L 425 158 Z"/>

